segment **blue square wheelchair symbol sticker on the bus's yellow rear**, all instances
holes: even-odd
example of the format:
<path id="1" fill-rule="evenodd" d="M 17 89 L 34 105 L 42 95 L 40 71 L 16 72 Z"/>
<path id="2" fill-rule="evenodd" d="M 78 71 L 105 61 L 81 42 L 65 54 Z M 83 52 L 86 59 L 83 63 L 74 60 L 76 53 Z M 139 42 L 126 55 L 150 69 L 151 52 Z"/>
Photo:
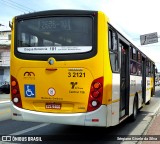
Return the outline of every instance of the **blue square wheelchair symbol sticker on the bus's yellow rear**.
<path id="1" fill-rule="evenodd" d="M 25 97 L 35 97 L 35 85 L 24 85 Z"/>

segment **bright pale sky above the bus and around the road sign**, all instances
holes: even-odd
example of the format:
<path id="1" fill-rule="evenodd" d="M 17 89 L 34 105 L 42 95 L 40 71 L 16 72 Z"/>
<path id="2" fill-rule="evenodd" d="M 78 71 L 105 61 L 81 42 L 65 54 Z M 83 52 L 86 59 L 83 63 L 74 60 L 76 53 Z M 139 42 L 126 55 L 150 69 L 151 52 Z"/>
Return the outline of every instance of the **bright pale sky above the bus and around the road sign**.
<path id="1" fill-rule="evenodd" d="M 101 10 L 156 62 L 160 71 L 160 42 L 140 45 L 140 35 L 160 35 L 160 0 L 0 0 L 0 30 L 16 15 L 51 9 Z"/>

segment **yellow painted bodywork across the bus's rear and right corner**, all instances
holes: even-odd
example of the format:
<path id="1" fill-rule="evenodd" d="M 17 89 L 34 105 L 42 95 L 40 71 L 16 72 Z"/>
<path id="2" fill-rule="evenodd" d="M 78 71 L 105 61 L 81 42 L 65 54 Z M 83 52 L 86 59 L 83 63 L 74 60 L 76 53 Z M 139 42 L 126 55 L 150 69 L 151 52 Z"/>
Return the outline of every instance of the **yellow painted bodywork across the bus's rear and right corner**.
<path id="1" fill-rule="evenodd" d="M 15 19 L 13 19 L 10 72 L 18 81 L 22 107 L 28 110 L 74 113 L 86 112 L 93 80 L 104 77 L 102 104 L 112 103 L 112 72 L 108 51 L 108 18 L 98 12 L 97 54 L 89 59 L 56 61 L 22 60 L 14 55 Z M 50 65 L 49 60 L 54 60 Z M 78 69 L 78 70 L 73 70 Z M 52 71 L 53 70 L 53 71 Z M 31 76 L 25 73 L 34 73 Z M 73 75 L 82 77 L 73 77 Z M 35 98 L 25 97 L 25 85 L 35 85 Z M 55 94 L 49 94 L 54 89 Z M 46 103 L 61 103 L 61 110 L 48 110 Z"/>

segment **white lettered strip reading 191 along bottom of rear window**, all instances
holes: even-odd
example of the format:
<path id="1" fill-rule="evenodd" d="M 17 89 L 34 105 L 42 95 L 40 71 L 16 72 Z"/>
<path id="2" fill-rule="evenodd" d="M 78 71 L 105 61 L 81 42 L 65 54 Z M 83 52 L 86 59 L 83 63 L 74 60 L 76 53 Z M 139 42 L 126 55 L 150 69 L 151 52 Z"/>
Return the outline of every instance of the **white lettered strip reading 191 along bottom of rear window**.
<path id="1" fill-rule="evenodd" d="M 92 46 L 18 47 L 19 52 L 29 54 L 84 53 L 91 50 Z"/>

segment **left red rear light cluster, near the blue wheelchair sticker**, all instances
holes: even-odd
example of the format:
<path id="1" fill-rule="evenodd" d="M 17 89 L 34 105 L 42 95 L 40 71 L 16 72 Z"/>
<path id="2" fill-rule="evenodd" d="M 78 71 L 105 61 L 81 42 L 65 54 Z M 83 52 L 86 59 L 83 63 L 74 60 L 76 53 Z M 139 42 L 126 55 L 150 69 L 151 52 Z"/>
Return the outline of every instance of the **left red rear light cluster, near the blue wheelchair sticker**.
<path id="1" fill-rule="evenodd" d="M 19 85 L 13 76 L 11 76 L 11 98 L 12 102 L 17 106 L 22 108 L 21 95 L 19 91 Z"/>

